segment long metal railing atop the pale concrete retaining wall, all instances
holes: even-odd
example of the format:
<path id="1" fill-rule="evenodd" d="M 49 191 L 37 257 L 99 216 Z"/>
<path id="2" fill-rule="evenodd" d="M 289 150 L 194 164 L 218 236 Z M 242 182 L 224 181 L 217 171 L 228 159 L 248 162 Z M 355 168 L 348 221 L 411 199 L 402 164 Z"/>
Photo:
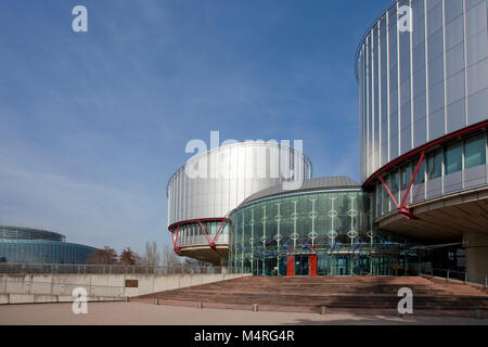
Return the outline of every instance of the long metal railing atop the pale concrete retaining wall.
<path id="1" fill-rule="evenodd" d="M 8 264 L 0 262 L 0 274 L 220 274 L 251 273 L 248 268 L 195 266 L 123 266 L 67 264 Z"/>

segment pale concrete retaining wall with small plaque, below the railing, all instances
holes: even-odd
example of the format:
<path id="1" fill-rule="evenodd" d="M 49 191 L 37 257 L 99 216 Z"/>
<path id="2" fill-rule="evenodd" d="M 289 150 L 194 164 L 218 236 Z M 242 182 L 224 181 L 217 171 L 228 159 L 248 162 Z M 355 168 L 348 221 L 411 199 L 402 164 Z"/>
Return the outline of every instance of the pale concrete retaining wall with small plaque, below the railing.
<path id="1" fill-rule="evenodd" d="M 0 304 L 73 301 L 84 287 L 89 301 L 121 300 L 156 292 L 232 280 L 247 274 L 26 274 L 0 275 Z M 126 287 L 137 280 L 137 287 Z"/>

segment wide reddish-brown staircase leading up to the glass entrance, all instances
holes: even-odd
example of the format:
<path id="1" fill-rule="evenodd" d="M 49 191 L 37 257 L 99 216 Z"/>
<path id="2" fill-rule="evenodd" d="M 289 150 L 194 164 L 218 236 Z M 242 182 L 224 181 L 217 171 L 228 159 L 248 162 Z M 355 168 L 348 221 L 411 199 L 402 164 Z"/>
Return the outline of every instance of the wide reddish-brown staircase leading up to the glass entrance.
<path id="1" fill-rule="evenodd" d="M 247 277 L 206 285 L 144 295 L 139 301 L 159 305 L 283 312 L 357 312 L 398 314 L 398 291 L 413 292 L 416 316 L 474 317 L 488 312 L 488 295 L 483 288 L 461 283 L 438 283 L 421 277 L 328 277 L 261 278 Z M 485 313 L 486 314 L 486 313 Z"/>

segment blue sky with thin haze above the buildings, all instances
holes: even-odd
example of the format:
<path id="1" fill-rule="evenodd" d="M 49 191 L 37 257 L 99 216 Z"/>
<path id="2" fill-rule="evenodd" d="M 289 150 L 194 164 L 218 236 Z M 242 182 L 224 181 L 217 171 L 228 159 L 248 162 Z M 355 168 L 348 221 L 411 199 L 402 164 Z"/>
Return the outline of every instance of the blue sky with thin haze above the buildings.
<path id="1" fill-rule="evenodd" d="M 359 179 L 359 39 L 390 0 L 0 0 L 0 224 L 170 243 L 191 139 L 304 140 Z M 88 9 L 88 33 L 72 9 Z"/>

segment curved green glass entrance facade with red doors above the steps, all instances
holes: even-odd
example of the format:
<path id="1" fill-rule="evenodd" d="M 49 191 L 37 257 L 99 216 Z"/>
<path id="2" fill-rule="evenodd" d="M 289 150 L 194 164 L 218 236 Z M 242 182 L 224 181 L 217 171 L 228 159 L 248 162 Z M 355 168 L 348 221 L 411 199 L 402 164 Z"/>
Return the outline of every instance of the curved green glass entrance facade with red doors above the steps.
<path id="1" fill-rule="evenodd" d="M 229 265 L 255 275 L 361 275 L 413 271 L 403 237 L 371 226 L 371 195 L 360 189 L 261 198 L 230 215 Z M 409 270 L 410 269 L 410 270 Z"/>

